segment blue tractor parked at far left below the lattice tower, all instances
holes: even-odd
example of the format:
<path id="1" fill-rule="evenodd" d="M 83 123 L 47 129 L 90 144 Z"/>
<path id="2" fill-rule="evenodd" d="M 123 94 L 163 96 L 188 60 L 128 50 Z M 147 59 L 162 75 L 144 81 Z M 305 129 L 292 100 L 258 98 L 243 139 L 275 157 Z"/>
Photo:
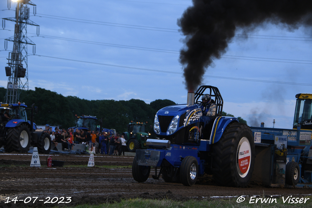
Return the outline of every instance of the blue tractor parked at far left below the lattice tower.
<path id="1" fill-rule="evenodd" d="M 5 119 L 1 114 L 0 121 L 0 146 L 4 146 L 6 152 L 27 152 L 30 146 L 38 147 L 41 153 L 49 153 L 51 150 L 50 135 L 44 130 L 37 130 L 33 122 L 34 111 L 37 107 L 27 108 L 25 104 L 0 103 L 0 110 L 9 111 L 11 119 Z M 31 119 L 27 120 L 26 110 L 30 110 Z"/>

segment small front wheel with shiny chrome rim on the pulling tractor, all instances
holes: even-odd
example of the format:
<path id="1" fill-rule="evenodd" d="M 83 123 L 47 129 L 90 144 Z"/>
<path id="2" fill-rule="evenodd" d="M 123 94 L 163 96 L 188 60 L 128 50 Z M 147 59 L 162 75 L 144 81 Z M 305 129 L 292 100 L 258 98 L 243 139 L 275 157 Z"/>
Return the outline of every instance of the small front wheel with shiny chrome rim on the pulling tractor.
<path id="1" fill-rule="evenodd" d="M 193 186 L 198 176 L 198 162 L 193 156 L 186 156 L 180 168 L 180 180 L 184 186 Z"/>

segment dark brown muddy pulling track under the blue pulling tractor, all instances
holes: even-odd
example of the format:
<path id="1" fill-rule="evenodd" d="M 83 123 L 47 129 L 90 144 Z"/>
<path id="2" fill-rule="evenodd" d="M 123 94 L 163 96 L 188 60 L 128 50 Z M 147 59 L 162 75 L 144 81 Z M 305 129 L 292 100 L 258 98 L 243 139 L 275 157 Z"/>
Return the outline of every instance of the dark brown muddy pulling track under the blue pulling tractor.
<path id="1" fill-rule="evenodd" d="M 9 165 L 0 167 L 0 208 L 56 205 L 68 207 L 86 203 L 112 203 L 123 198 L 136 197 L 188 200 L 190 198 L 215 199 L 214 196 L 294 196 L 312 193 L 312 189 L 272 188 L 254 183 L 246 188 L 220 187 L 215 185 L 211 176 L 199 179 L 192 187 L 185 187 L 179 183 L 165 183 L 163 179 L 153 179 L 154 170 L 151 170 L 150 178 L 145 183 L 137 183 L 132 177 L 131 168 L 128 167 L 132 165 L 133 156 L 96 155 L 96 166 L 88 168 L 66 167 L 66 165 L 87 165 L 88 155 L 53 155 L 53 160 L 65 161 L 64 167 L 54 168 L 46 167 L 46 156 L 39 154 L 41 168 L 35 168 L 16 166 L 30 166 L 32 154 L 0 153 L 0 165 Z M 97 167 L 112 165 L 125 168 Z M 20 201 L 15 203 L 12 201 L 14 198 Z M 44 204 L 51 200 L 52 203 Z M 28 201 L 30 202 L 26 204 Z"/>

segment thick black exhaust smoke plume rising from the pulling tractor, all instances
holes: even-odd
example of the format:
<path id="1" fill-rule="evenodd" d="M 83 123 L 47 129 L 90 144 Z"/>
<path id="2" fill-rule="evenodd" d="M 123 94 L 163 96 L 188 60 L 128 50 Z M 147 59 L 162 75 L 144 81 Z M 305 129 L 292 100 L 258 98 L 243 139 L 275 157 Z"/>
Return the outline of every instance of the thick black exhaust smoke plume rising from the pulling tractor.
<path id="1" fill-rule="evenodd" d="M 236 29 L 244 33 L 266 23 L 287 28 L 312 25 L 312 0 L 193 0 L 177 20 L 186 36 L 179 61 L 187 90 L 201 84 L 205 69 L 226 52 Z"/>

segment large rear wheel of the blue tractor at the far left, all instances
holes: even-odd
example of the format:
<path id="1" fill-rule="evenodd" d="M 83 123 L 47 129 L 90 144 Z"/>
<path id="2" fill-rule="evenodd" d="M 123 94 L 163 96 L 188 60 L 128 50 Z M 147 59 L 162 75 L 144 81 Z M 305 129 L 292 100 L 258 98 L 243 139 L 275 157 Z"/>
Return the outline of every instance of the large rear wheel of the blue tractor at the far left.
<path id="1" fill-rule="evenodd" d="M 4 150 L 7 152 L 26 152 L 30 146 L 30 132 L 26 124 L 9 128 L 5 139 Z"/>

